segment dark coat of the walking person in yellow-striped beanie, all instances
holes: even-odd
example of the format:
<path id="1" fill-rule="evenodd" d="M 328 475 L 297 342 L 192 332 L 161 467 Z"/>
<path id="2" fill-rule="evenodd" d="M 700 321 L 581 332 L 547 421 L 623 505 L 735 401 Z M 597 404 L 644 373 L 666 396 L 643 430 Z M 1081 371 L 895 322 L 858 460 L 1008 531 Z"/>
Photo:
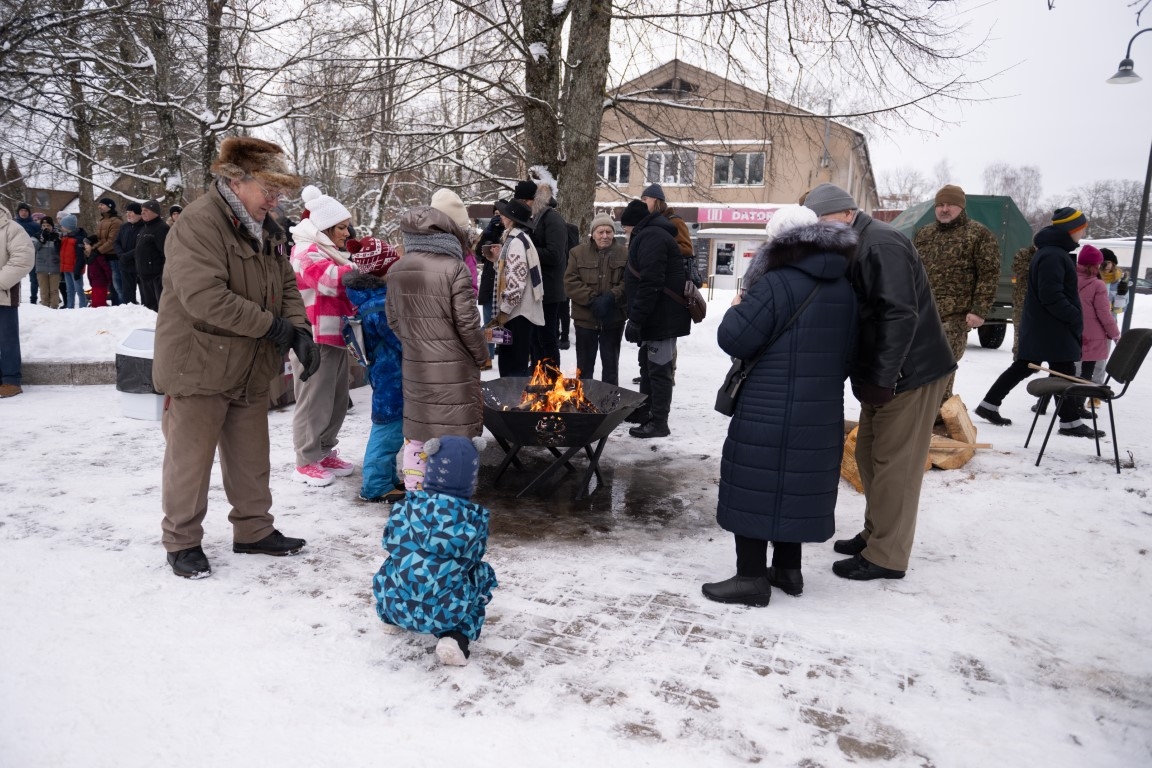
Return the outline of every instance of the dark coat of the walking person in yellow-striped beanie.
<path id="1" fill-rule="evenodd" d="M 1076 282 L 1076 241 L 1059 227 L 1032 238 L 1036 256 L 1028 268 L 1028 292 L 1020 321 L 1017 358 L 1071 363 L 1081 359 L 1084 314 Z"/>

